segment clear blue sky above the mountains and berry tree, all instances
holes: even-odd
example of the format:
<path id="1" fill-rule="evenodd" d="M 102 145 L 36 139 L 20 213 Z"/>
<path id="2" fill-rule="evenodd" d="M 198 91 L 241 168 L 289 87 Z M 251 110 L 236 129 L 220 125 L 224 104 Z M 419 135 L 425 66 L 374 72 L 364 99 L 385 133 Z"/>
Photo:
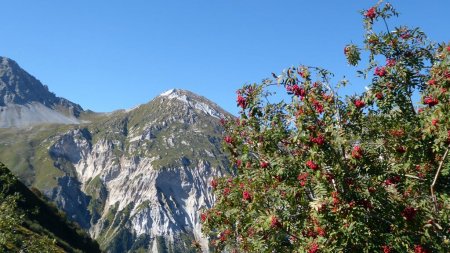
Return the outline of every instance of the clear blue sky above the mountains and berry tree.
<path id="1" fill-rule="evenodd" d="M 0 55 L 85 109 L 130 108 L 182 88 L 236 113 L 236 89 L 285 67 L 303 63 L 351 73 L 343 47 L 362 40 L 358 11 L 375 3 L 2 1 Z M 391 3 L 401 12 L 395 23 L 450 40 L 450 1 Z"/>

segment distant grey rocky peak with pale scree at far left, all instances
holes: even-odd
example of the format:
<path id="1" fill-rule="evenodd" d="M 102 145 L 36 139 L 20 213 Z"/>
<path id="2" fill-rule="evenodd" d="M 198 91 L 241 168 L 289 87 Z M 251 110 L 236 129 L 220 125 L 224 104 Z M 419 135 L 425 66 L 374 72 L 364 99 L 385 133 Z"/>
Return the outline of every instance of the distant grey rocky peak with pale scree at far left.
<path id="1" fill-rule="evenodd" d="M 0 128 L 77 124 L 81 106 L 56 97 L 15 61 L 0 57 Z"/>

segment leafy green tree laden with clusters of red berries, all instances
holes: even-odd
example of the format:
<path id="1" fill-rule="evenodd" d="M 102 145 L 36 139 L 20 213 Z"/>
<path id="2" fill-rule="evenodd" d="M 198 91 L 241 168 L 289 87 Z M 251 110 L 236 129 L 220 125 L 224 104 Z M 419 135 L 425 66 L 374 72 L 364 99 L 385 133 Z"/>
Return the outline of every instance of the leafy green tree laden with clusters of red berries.
<path id="1" fill-rule="evenodd" d="M 362 14 L 364 46 L 344 53 L 355 66 L 367 53 L 366 92 L 341 98 L 345 81 L 308 66 L 238 91 L 240 118 L 224 122 L 235 175 L 211 182 L 201 215 L 216 250 L 450 251 L 450 46 L 390 30 L 388 3 Z M 281 86 L 289 102 L 271 102 Z"/>

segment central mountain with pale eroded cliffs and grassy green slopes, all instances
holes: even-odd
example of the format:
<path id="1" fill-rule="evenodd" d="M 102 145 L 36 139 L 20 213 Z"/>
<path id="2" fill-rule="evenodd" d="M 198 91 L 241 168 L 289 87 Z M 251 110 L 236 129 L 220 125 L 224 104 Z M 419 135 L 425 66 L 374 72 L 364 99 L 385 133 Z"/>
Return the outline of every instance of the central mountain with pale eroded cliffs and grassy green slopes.
<path id="1" fill-rule="evenodd" d="M 232 116 L 173 89 L 88 117 L 0 129 L 0 160 L 107 252 L 207 252 L 199 216 L 214 202 L 211 179 L 229 173 L 220 119 Z"/>

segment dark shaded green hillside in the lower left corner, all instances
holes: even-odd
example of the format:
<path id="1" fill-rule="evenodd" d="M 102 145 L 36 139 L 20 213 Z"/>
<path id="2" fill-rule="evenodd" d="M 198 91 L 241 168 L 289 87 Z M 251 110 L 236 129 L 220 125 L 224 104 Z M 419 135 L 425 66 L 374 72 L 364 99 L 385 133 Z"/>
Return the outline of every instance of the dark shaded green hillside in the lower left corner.
<path id="1" fill-rule="evenodd" d="M 0 210 L 0 252 L 100 252 L 86 232 L 1 163 Z"/>

